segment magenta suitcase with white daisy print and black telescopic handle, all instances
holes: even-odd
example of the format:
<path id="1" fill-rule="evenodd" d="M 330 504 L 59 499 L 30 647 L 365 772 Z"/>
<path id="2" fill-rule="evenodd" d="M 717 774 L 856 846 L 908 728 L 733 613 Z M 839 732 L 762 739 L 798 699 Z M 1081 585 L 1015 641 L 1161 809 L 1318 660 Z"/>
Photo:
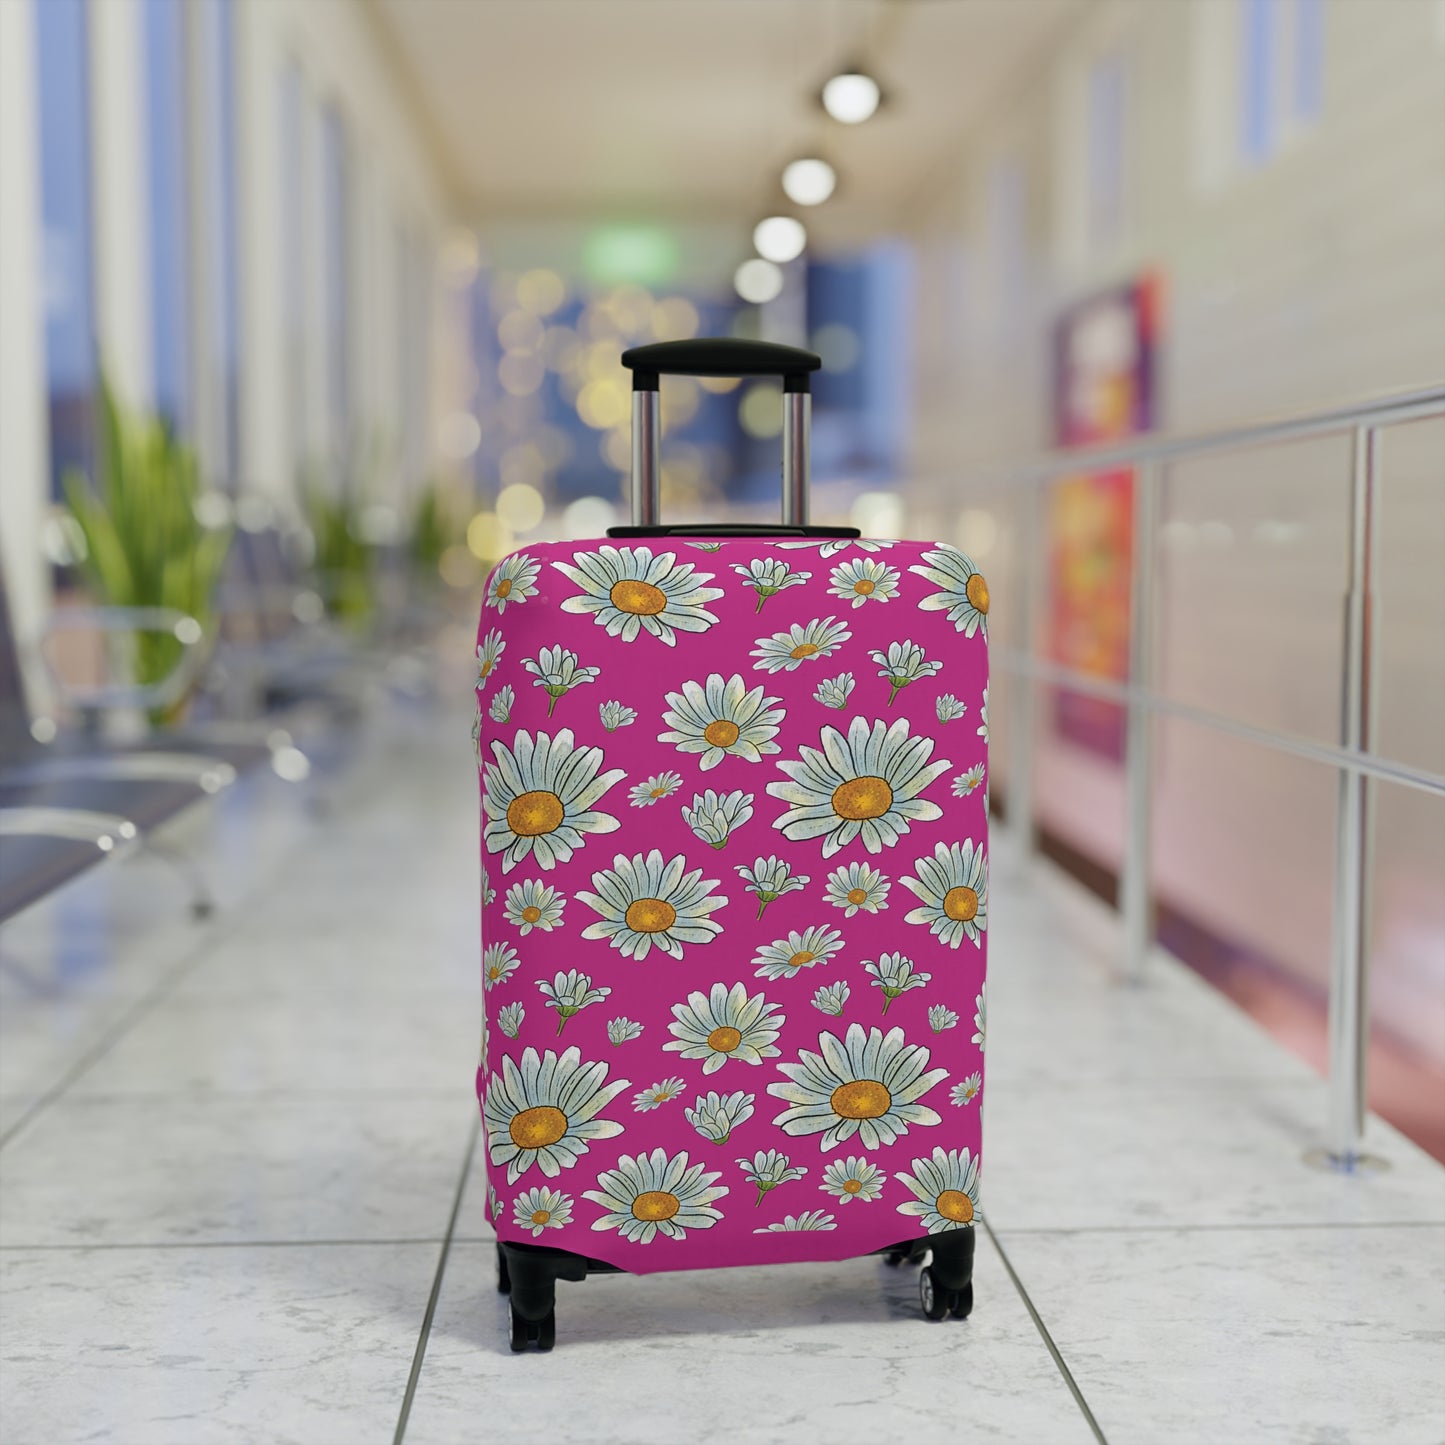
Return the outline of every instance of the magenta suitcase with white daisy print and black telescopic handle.
<path id="1" fill-rule="evenodd" d="M 633 525 L 487 579 L 477 1094 L 512 1348 L 588 1273 L 925 1261 L 972 1306 L 988 588 L 806 525 L 818 357 L 660 342 Z M 782 376 L 783 523 L 657 523 L 668 373 Z"/>

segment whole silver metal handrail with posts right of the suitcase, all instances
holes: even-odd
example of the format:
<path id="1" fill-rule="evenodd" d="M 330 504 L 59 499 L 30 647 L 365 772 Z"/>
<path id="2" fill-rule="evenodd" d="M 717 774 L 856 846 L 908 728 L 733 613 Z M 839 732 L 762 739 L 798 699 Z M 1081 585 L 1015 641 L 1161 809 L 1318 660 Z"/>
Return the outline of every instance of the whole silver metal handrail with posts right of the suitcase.
<path id="1" fill-rule="evenodd" d="M 1155 434 L 1104 447 L 1051 452 L 1023 464 L 984 474 L 996 486 L 1026 490 L 1025 546 L 1020 551 L 1016 595 L 1022 649 L 996 649 L 994 660 L 1022 681 L 1012 694 L 1009 799 L 1020 819 L 1026 847 L 1033 842 L 1033 689 L 1048 683 L 1123 704 L 1127 715 L 1124 792 L 1127 831 L 1120 874 L 1120 913 L 1127 977 L 1142 981 L 1153 944 L 1150 893 L 1152 722 L 1156 715 L 1183 718 L 1201 727 L 1269 747 L 1292 757 L 1338 769 L 1335 815 L 1335 909 L 1329 972 L 1329 1127 L 1324 1159 L 1337 1169 L 1355 1170 L 1377 1163 L 1363 1150 L 1366 1061 L 1368 1040 L 1368 896 L 1371 884 L 1371 785 L 1394 783 L 1445 796 L 1445 776 L 1412 767 L 1371 751 L 1376 737 L 1374 689 L 1374 568 L 1379 434 L 1387 426 L 1445 416 L 1445 383 L 1371 397 L 1350 406 L 1296 413 L 1208 432 Z M 1224 714 L 1166 698 L 1153 689 L 1155 540 L 1159 486 L 1173 462 L 1209 452 L 1246 451 L 1308 436 L 1348 434 L 1350 548 L 1344 592 L 1344 675 L 1341 682 L 1341 740 L 1318 743 L 1277 728 L 1241 722 Z M 1124 682 L 1059 666 L 1032 650 L 1038 585 L 1036 543 L 1042 535 L 1042 493 L 1048 483 L 1094 471 L 1134 468 L 1133 572 L 1130 588 L 1130 646 Z"/>

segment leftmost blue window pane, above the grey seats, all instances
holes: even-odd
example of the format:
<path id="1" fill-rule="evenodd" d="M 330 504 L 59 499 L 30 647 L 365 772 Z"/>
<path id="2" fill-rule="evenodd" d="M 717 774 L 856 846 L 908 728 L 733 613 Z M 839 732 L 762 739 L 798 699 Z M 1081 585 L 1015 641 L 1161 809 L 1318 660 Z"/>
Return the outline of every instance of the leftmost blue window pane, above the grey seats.
<path id="1" fill-rule="evenodd" d="M 51 490 L 94 457 L 95 299 L 91 277 L 90 66 L 84 0 L 35 7 L 45 371 Z"/>

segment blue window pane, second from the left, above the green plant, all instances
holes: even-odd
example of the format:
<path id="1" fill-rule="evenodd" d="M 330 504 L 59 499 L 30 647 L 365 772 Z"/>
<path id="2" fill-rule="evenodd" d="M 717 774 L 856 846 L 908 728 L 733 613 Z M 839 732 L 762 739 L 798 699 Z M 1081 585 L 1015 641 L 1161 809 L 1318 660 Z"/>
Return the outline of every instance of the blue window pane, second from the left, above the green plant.
<path id="1" fill-rule="evenodd" d="M 146 0 L 144 45 L 156 412 L 185 432 L 191 423 L 185 9 L 175 0 Z"/>

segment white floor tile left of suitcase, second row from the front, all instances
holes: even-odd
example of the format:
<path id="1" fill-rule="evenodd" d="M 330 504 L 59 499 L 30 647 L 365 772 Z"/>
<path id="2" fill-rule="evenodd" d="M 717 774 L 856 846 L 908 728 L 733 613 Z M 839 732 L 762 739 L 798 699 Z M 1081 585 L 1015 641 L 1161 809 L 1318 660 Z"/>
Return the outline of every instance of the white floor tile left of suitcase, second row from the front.
<path id="1" fill-rule="evenodd" d="M 0 1153 L 0 1244 L 442 1234 L 475 1101 L 59 1101 Z"/>

